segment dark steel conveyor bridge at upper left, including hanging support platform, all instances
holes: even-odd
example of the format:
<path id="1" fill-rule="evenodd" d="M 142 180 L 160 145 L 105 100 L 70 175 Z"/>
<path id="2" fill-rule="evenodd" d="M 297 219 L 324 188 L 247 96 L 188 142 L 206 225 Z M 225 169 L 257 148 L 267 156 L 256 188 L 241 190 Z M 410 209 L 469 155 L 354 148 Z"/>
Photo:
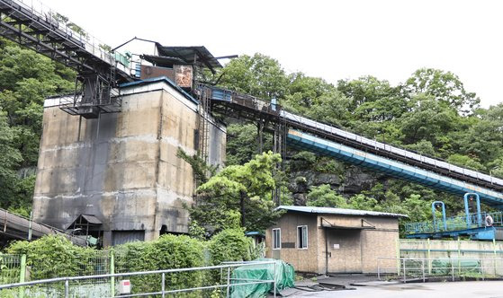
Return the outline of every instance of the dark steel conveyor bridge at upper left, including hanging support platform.
<path id="1" fill-rule="evenodd" d="M 97 118 L 120 110 L 117 84 L 133 81 L 104 43 L 38 2 L 0 0 L 0 36 L 76 70 L 76 92 L 61 109 Z"/>

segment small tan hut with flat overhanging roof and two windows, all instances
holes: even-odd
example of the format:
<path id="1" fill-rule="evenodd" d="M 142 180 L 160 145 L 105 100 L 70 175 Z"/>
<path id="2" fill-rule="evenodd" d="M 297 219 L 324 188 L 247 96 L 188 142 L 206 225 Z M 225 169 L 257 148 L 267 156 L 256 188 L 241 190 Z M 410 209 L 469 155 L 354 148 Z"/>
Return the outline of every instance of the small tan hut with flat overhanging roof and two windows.
<path id="1" fill-rule="evenodd" d="M 378 257 L 397 257 L 398 220 L 407 217 L 313 206 L 277 209 L 286 212 L 265 232 L 266 257 L 314 274 L 376 273 Z M 380 264 L 394 267 L 396 260 Z"/>

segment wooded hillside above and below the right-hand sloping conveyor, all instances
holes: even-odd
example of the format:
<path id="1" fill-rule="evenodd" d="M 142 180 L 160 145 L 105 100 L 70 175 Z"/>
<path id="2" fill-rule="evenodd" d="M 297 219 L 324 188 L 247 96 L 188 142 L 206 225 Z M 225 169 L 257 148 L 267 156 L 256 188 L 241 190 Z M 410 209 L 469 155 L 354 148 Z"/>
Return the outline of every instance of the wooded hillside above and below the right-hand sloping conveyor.
<path id="1" fill-rule="evenodd" d="M 503 104 L 481 109 L 476 94 L 451 72 L 422 68 L 397 85 L 370 75 L 332 84 L 287 74 L 278 61 L 256 54 L 232 60 L 222 74 L 220 85 L 231 90 L 266 101 L 276 98 L 285 109 L 309 118 L 503 178 Z M 243 164 L 257 152 L 250 145 L 256 144 L 256 126 L 231 122 L 228 162 Z M 431 216 L 433 200 L 444 200 L 450 214 L 462 209 L 460 197 L 368 171 L 374 176 L 371 185 L 347 193 L 344 181 L 354 167 L 313 153 L 290 150 L 284 162 L 287 181 L 295 185 L 291 189 L 306 188 L 304 203 L 310 206 L 386 210 L 411 220 Z M 338 177 L 342 186 L 306 179 L 319 173 Z"/>

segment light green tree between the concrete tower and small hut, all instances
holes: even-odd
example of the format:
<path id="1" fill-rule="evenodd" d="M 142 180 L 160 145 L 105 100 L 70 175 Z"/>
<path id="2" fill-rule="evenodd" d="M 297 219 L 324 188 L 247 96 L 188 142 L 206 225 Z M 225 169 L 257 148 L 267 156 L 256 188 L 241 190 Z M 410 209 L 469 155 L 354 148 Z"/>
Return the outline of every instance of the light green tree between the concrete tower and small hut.
<path id="1" fill-rule="evenodd" d="M 280 155 L 269 152 L 224 168 L 197 189 L 202 197 L 190 208 L 191 218 L 209 233 L 236 228 L 237 223 L 248 231 L 265 230 L 278 215 L 272 200 L 278 162 Z"/>

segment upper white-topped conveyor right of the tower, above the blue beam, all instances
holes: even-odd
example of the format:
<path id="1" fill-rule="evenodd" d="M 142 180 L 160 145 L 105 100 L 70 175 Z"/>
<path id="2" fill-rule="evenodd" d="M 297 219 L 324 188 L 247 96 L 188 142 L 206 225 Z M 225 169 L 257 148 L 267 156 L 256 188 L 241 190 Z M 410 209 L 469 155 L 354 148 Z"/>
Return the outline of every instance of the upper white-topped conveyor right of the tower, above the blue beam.
<path id="1" fill-rule="evenodd" d="M 226 113 L 229 116 L 239 115 L 250 119 L 265 118 L 271 122 L 280 123 L 301 132 L 309 133 L 312 136 L 347 145 L 364 153 L 373 153 L 377 156 L 403 162 L 418 169 L 432 171 L 448 178 L 467 182 L 474 186 L 496 191 L 503 190 L 503 180 L 486 173 L 465 169 L 440 159 L 377 142 L 339 127 L 301 117 L 283 110 L 279 105 L 262 101 L 253 96 L 216 87 L 208 88 L 212 90 L 212 109 Z"/>

